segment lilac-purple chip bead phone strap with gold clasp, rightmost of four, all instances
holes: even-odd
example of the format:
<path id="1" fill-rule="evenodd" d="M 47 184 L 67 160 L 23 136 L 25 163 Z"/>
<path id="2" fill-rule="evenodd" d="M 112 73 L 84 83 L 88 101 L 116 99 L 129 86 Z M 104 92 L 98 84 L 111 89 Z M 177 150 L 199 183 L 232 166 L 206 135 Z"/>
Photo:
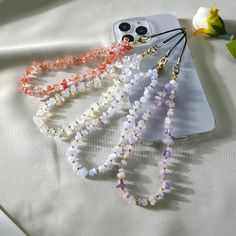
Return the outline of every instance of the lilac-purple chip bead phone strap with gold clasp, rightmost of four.
<path id="1" fill-rule="evenodd" d="M 183 39 L 183 38 L 182 38 Z M 127 160 L 130 157 L 130 154 L 133 150 L 134 144 L 137 144 L 140 139 L 142 132 L 144 131 L 146 124 L 148 120 L 150 119 L 151 115 L 153 114 L 153 110 L 148 109 L 145 112 L 143 112 L 142 117 L 140 120 L 136 120 L 136 125 L 132 126 L 131 129 L 126 129 L 126 132 L 123 134 L 125 137 L 128 137 L 128 142 L 121 147 L 120 155 L 121 155 L 121 164 L 118 169 L 118 185 L 116 188 L 120 190 L 120 195 L 126 199 L 131 205 L 139 205 L 139 206 L 154 206 L 156 203 L 164 198 L 164 194 L 166 192 L 169 192 L 172 188 L 172 185 L 168 178 L 168 171 L 167 167 L 169 165 L 169 159 L 173 155 L 172 145 L 174 144 L 174 136 L 173 136 L 173 127 L 171 125 L 171 121 L 173 118 L 173 115 L 175 113 L 175 104 L 176 104 L 176 91 L 177 91 L 177 77 L 180 72 L 180 65 L 182 56 L 184 53 L 184 50 L 186 48 L 187 38 L 184 36 L 185 42 L 183 49 L 181 51 L 180 57 L 178 58 L 177 64 L 172 67 L 172 76 L 170 81 L 164 86 L 164 93 L 157 94 L 157 97 L 155 97 L 155 100 L 153 102 L 153 105 L 157 107 L 160 107 L 162 104 L 165 104 L 167 106 L 167 112 L 166 117 L 164 119 L 164 133 L 162 138 L 162 143 L 165 145 L 165 148 L 162 152 L 162 160 L 159 162 L 160 169 L 160 179 L 161 184 L 159 189 L 155 194 L 153 194 L 150 197 L 143 197 L 143 196 L 135 196 L 133 193 L 131 193 L 128 190 L 127 185 L 125 184 L 125 171 L 126 171 L 126 165 Z M 167 55 L 168 56 L 168 53 Z M 156 103 L 156 98 L 158 98 L 158 103 Z M 158 104 L 158 105 L 157 105 Z M 132 122 L 132 119 L 127 117 L 127 120 Z M 129 139 L 135 140 L 130 142 Z M 127 151 L 127 145 L 129 146 L 129 150 Z"/>

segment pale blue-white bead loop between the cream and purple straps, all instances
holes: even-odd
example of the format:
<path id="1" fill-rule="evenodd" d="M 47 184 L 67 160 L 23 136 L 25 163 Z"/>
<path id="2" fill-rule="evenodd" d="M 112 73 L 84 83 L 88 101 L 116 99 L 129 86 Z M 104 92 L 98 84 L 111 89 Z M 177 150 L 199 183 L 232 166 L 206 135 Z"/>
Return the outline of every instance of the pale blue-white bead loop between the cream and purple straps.
<path id="1" fill-rule="evenodd" d="M 140 98 L 140 101 L 136 101 L 134 104 L 134 107 L 141 107 L 143 106 L 149 99 L 149 93 L 151 90 L 153 90 L 157 85 L 157 72 L 156 70 L 149 70 L 146 73 L 140 72 L 138 74 L 135 74 L 138 76 L 134 76 L 134 79 L 132 79 L 129 83 L 125 84 L 128 86 L 124 86 L 123 89 L 119 90 L 118 99 L 117 96 L 113 98 L 113 101 L 111 104 L 113 105 L 114 111 L 119 109 L 122 105 L 123 101 L 125 100 L 125 97 L 128 99 L 128 92 L 132 88 L 132 86 L 135 83 L 135 80 L 150 78 L 150 83 L 147 85 L 144 89 L 144 94 Z M 127 88 L 129 88 L 127 90 Z M 114 104 L 115 103 L 115 104 Z M 108 121 L 112 118 L 114 111 L 112 113 L 109 113 L 110 107 L 107 107 L 106 111 L 103 111 L 102 115 L 100 117 L 96 117 L 93 121 L 90 122 L 90 124 L 86 124 L 76 133 L 75 139 L 71 142 L 70 147 L 67 149 L 67 159 L 72 164 L 72 169 L 77 172 L 77 174 L 81 177 L 89 176 L 96 176 L 98 173 L 105 173 L 108 170 L 112 170 L 114 165 L 116 164 L 116 161 L 119 157 L 119 145 L 113 148 L 113 153 L 104 161 L 103 164 L 99 165 L 98 167 L 90 168 L 89 170 L 86 167 L 83 167 L 79 162 L 80 159 L 77 157 L 79 153 L 79 146 L 80 146 L 80 140 L 84 138 L 86 135 L 88 135 L 91 132 L 94 132 L 95 130 L 98 130 L 101 125 L 105 125 L 108 123 Z M 135 108 L 136 109 L 136 108 Z M 132 113 L 132 109 L 129 111 Z M 130 114 L 132 116 L 132 114 Z M 94 122 L 96 120 L 96 122 Z M 125 126 L 129 126 L 132 124 L 125 123 Z M 121 137 L 121 142 L 124 137 Z"/>

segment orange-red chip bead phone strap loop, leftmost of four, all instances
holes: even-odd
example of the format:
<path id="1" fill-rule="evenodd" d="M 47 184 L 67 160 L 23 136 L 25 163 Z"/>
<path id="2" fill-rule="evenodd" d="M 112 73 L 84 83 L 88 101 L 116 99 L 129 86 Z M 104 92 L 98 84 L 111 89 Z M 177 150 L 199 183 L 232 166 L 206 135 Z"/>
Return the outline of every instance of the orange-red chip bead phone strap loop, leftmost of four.
<path id="1" fill-rule="evenodd" d="M 26 67 L 24 74 L 21 76 L 17 87 L 20 92 L 34 97 L 47 97 L 54 93 L 61 92 L 71 85 L 77 85 L 80 81 L 93 80 L 103 73 L 107 65 L 113 61 L 124 57 L 133 47 L 127 39 L 120 43 L 112 43 L 110 47 L 96 49 L 81 56 L 66 56 L 56 61 L 44 61 L 42 63 L 34 62 L 31 66 Z M 86 72 L 76 73 L 69 78 L 63 79 L 60 83 L 47 85 L 46 87 L 34 87 L 30 80 L 40 73 L 63 70 L 72 66 L 86 64 L 94 59 L 103 58 L 97 67 Z"/>

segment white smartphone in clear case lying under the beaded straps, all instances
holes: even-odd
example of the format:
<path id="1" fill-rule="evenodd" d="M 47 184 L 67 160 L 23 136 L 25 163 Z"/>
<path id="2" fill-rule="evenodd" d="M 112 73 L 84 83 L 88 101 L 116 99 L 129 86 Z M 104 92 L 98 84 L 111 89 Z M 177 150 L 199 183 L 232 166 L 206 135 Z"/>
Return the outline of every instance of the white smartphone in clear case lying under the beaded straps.
<path id="1" fill-rule="evenodd" d="M 112 29 L 116 41 L 121 41 L 124 37 L 128 37 L 130 41 L 133 41 L 140 37 L 140 35 L 152 35 L 178 27 L 180 27 L 180 25 L 175 16 L 171 14 L 160 14 L 118 20 L 113 24 Z M 176 32 L 162 35 L 156 39 L 153 38 L 147 44 L 135 46 L 132 53 L 143 51 L 151 44 L 153 45 L 157 40 L 161 42 L 163 39 L 167 39 L 174 34 L 176 34 Z M 177 40 L 178 39 L 176 39 L 176 42 Z M 158 60 L 164 56 L 167 50 L 173 45 L 174 42 L 167 44 L 165 47 L 161 48 L 157 54 L 144 59 L 141 64 L 141 70 L 146 71 L 147 69 L 154 68 Z M 173 54 L 168 58 L 168 63 L 159 78 L 160 87 L 170 79 L 171 67 L 177 63 L 182 46 L 183 44 L 180 43 L 173 51 Z M 213 130 L 215 127 L 215 119 L 192 62 L 188 47 L 182 58 L 178 81 L 177 105 L 172 123 L 175 131 L 174 136 L 176 138 L 183 138 Z M 131 104 L 141 96 L 143 86 L 143 84 L 137 85 L 130 94 Z M 158 141 L 162 138 L 165 112 L 164 109 L 159 109 L 154 114 L 143 134 L 142 138 L 144 140 Z"/>

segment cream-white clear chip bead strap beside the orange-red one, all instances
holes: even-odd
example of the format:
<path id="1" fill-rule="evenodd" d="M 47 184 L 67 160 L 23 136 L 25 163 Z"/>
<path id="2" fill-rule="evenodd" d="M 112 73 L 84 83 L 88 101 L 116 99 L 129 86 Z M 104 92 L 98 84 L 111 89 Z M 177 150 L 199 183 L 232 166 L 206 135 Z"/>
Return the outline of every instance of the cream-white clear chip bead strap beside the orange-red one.
<path id="1" fill-rule="evenodd" d="M 177 29 L 174 29 L 174 30 L 177 30 Z M 172 32 L 172 31 L 161 32 L 159 34 L 156 34 L 155 37 L 162 35 L 164 33 Z M 170 42 L 172 39 L 174 39 L 178 35 L 179 33 L 175 34 L 174 36 L 171 36 L 167 40 L 164 40 L 163 42 L 157 44 L 156 47 L 157 48 L 162 47 L 163 45 L 165 45 L 165 43 Z M 149 51 L 149 49 L 145 51 Z M 145 54 L 145 56 L 146 55 L 149 55 L 149 54 Z M 92 87 L 101 86 L 101 79 L 104 79 L 104 77 L 109 76 L 110 78 L 113 78 L 114 86 L 116 86 L 115 84 L 116 81 L 122 82 L 126 76 L 131 76 L 139 68 L 141 58 L 142 58 L 141 55 L 136 55 L 136 54 L 126 56 L 122 58 L 121 60 L 114 62 L 113 65 L 108 65 L 105 71 L 99 76 L 99 78 L 96 78 L 91 81 L 80 81 L 80 83 L 77 86 L 71 85 L 70 87 L 62 91 L 61 94 L 56 94 L 54 97 L 51 97 L 44 102 L 41 102 L 39 105 L 38 111 L 33 118 L 36 126 L 39 128 L 39 130 L 42 133 L 45 133 L 49 136 L 60 138 L 60 139 L 70 138 L 71 135 L 73 135 L 73 133 L 76 132 L 76 130 L 78 130 L 79 127 L 81 127 L 85 123 L 86 120 L 90 120 L 90 117 L 94 116 L 94 112 L 96 111 L 95 108 L 97 106 L 102 106 L 104 103 L 108 102 L 107 98 L 110 96 L 109 93 L 111 92 L 109 92 L 107 96 L 104 96 L 104 94 L 102 94 L 95 105 L 93 104 L 89 106 L 89 111 L 84 112 L 82 116 L 76 118 L 75 120 L 67 124 L 62 125 L 61 127 L 58 127 L 58 128 L 49 127 L 47 125 L 47 119 L 49 117 L 48 114 L 51 113 L 52 110 L 55 110 L 59 104 L 61 105 L 64 102 L 66 102 L 70 97 L 75 97 L 76 94 L 85 92 L 87 89 L 91 89 Z M 131 84 L 132 83 L 133 81 L 131 80 Z M 106 115 L 108 116 L 109 114 L 104 113 L 104 116 L 103 116 L 104 119 Z"/>

